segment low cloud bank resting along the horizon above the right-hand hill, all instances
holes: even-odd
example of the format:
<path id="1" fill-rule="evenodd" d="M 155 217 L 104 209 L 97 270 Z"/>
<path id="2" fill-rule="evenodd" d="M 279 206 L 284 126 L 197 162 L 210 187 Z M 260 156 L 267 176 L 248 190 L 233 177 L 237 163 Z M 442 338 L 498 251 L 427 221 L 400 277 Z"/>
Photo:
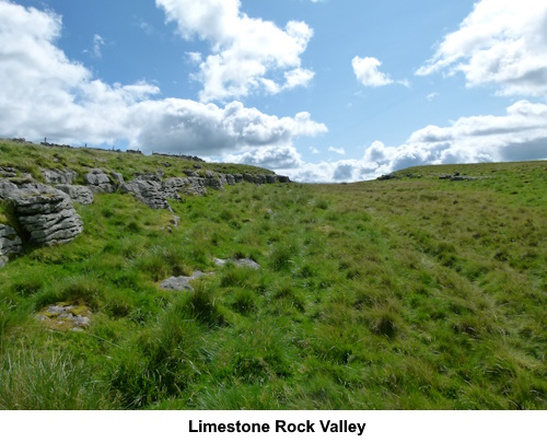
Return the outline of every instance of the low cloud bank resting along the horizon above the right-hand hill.
<path id="1" fill-rule="evenodd" d="M 421 164 L 537 159 L 547 159 L 547 105 L 519 101 L 503 116 L 462 117 L 446 127 L 428 126 L 397 147 L 375 141 L 360 159 L 307 163 L 293 156 L 292 167 L 279 172 L 301 182 L 357 182 Z"/>

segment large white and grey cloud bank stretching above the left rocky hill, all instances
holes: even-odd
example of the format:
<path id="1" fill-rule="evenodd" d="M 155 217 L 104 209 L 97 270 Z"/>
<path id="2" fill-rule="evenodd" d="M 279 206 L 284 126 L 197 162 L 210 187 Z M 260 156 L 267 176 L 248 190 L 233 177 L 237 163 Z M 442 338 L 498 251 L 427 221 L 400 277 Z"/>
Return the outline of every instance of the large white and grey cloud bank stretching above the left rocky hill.
<path id="1" fill-rule="evenodd" d="M 147 82 L 104 83 L 56 46 L 60 32 L 59 15 L 0 0 L 0 135 L 220 156 L 327 130 L 309 113 L 280 118 L 238 102 L 154 100 Z"/>

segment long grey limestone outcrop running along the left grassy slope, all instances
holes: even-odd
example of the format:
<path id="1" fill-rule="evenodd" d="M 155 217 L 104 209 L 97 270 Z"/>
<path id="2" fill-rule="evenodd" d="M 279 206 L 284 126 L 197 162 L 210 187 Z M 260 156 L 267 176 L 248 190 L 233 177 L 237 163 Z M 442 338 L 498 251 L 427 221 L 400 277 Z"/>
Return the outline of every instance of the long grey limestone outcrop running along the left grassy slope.
<path id="1" fill-rule="evenodd" d="M 67 167 L 42 168 L 42 177 L 32 177 L 12 166 L 0 167 L 0 202 L 9 202 L 11 217 L 15 219 L 12 226 L 0 224 L 0 267 L 9 257 L 21 254 L 25 242 L 38 246 L 71 242 L 83 232 L 82 220 L 72 202 L 91 205 L 94 194 L 119 190 L 152 209 L 172 210 L 170 199 L 182 200 L 184 195 L 203 196 L 208 188 L 224 189 L 242 182 L 257 185 L 290 182 L 284 176 L 223 174 L 199 166 L 199 171 L 184 171 L 186 176 L 164 179 L 163 171 L 158 171 L 136 174 L 129 182 L 117 172 L 92 168 L 83 176 L 84 185 L 74 184 L 78 173 Z M 174 217 L 175 228 L 177 220 Z"/>

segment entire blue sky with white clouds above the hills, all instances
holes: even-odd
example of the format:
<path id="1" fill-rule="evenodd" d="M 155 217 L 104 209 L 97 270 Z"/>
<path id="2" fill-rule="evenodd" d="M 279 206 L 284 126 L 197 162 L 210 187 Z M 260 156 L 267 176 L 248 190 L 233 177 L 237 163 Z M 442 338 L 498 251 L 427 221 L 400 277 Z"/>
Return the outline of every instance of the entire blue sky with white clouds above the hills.
<path id="1" fill-rule="evenodd" d="M 547 1 L 0 0 L 0 137 L 317 183 L 547 159 Z"/>

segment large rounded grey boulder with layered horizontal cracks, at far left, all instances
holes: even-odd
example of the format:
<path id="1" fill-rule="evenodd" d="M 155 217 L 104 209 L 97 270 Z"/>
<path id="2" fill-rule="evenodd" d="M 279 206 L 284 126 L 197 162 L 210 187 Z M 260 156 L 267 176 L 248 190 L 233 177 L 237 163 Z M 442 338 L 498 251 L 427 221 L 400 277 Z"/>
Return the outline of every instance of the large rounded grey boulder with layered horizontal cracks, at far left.
<path id="1" fill-rule="evenodd" d="M 83 223 L 69 196 L 42 184 L 25 184 L 4 194 L 15 209 L 30 241 L 38 245 L 71 242 L 83 231 Z"/>

